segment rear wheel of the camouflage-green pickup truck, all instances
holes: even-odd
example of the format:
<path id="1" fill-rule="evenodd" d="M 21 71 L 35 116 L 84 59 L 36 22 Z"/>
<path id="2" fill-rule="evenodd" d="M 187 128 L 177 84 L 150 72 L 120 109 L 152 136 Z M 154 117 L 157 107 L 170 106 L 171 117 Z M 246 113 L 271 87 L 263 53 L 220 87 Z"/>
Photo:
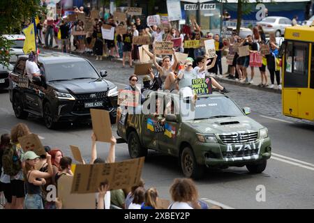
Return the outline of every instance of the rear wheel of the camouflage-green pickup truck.
<path id="1" fill-rule="evenodd" d="M 144 148 L 135 131 L 128 135 L 128 153 L 131 158 L 147 156 L 147 148 Z"/>

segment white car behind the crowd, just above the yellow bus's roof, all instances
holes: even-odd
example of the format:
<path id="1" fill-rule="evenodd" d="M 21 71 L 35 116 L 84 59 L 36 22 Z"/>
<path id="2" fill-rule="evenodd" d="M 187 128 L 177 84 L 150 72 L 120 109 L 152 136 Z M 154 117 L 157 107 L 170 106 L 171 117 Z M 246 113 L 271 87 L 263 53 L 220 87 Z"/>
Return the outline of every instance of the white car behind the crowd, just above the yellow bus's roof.
<path id="1" fill-rule="evenodd" d="M 269 16 L 256 24 L 262 26 L 264 33 L 275 33 L 276 36 L 280 37 L 285 33 L 287 26 L 292 26 L 292 21 L 287 17 Z"/>

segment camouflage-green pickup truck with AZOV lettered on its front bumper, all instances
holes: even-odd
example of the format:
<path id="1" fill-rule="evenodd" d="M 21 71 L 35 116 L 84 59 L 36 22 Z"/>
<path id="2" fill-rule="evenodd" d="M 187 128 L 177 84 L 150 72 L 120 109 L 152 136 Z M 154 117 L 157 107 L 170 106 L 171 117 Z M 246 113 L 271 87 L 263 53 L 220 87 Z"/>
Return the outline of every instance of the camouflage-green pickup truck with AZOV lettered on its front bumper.
<path id="1" fill-rule="evenodd" d="M 179 157 L 184 175 L 195 179 L 202 178 L 205 167 L 246 166 L 256 174 L 266 168 L 268 130 L 246 116 L 248 107 L 241 109 L 220 93 L 184 100 L 154 91 L 147 98 L 141 114 L 125 110 L 117 116 L 117 131 L 130 157 L 146 156 L 148 149 Z"/>

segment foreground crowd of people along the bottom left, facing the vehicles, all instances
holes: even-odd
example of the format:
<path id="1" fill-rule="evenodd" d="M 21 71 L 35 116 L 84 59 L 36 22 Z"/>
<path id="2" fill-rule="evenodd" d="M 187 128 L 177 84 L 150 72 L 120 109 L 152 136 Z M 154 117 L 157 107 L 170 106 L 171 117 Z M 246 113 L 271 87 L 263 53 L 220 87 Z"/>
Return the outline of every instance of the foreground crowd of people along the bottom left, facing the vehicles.
<path id="1" fill-rule="evenodd" d="M 72 159 L 63 156 L 59 148 L 45 146 L 45 155 L 22 148 L 18 138 L 31 134 L 24 123 L 15 125 L 10 134 L 2 134 L 0 141 L 0 195 L 4 195 L 5 209 L 61 209 L 62 198 L 47 201 L 47 186 L 55 185 L 63 176 L 73 176 Z M 115 162 L 115 144 L 112 137 L 106 159 L 97 156 L 96 135 L 91 134 L 89 164 Z M 101 185 L 96 193 L 95 208 L 110 209 L 207 209 L 208 204 L 198 197 L 193 180 L 176 178 L 170 185 L 169 206 L 160 206 L 156 187 L 144 188 L 144 180 L 130 189 L 109 190 L 110 182 Z M 82 201 L 84 202 L 84 201 Z M 217 207 L 212 207 L 217 208 Z"/>

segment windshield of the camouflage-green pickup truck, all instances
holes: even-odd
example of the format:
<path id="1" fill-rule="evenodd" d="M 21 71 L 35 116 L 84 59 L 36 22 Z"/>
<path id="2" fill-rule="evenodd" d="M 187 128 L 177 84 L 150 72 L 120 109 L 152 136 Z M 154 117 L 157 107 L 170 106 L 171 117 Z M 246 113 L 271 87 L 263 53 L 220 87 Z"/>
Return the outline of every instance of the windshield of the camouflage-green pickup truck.
<path id="1" fill-rule="evenodd" d="M 181 117 L 183 121 L 244 116 L 239 107 L 225 96 L 198 98 L 195 105 L 195 111 L 189 111 L 188 114 L 187 112 L 182 111 L 183 107 L 181 107 Z"/>

